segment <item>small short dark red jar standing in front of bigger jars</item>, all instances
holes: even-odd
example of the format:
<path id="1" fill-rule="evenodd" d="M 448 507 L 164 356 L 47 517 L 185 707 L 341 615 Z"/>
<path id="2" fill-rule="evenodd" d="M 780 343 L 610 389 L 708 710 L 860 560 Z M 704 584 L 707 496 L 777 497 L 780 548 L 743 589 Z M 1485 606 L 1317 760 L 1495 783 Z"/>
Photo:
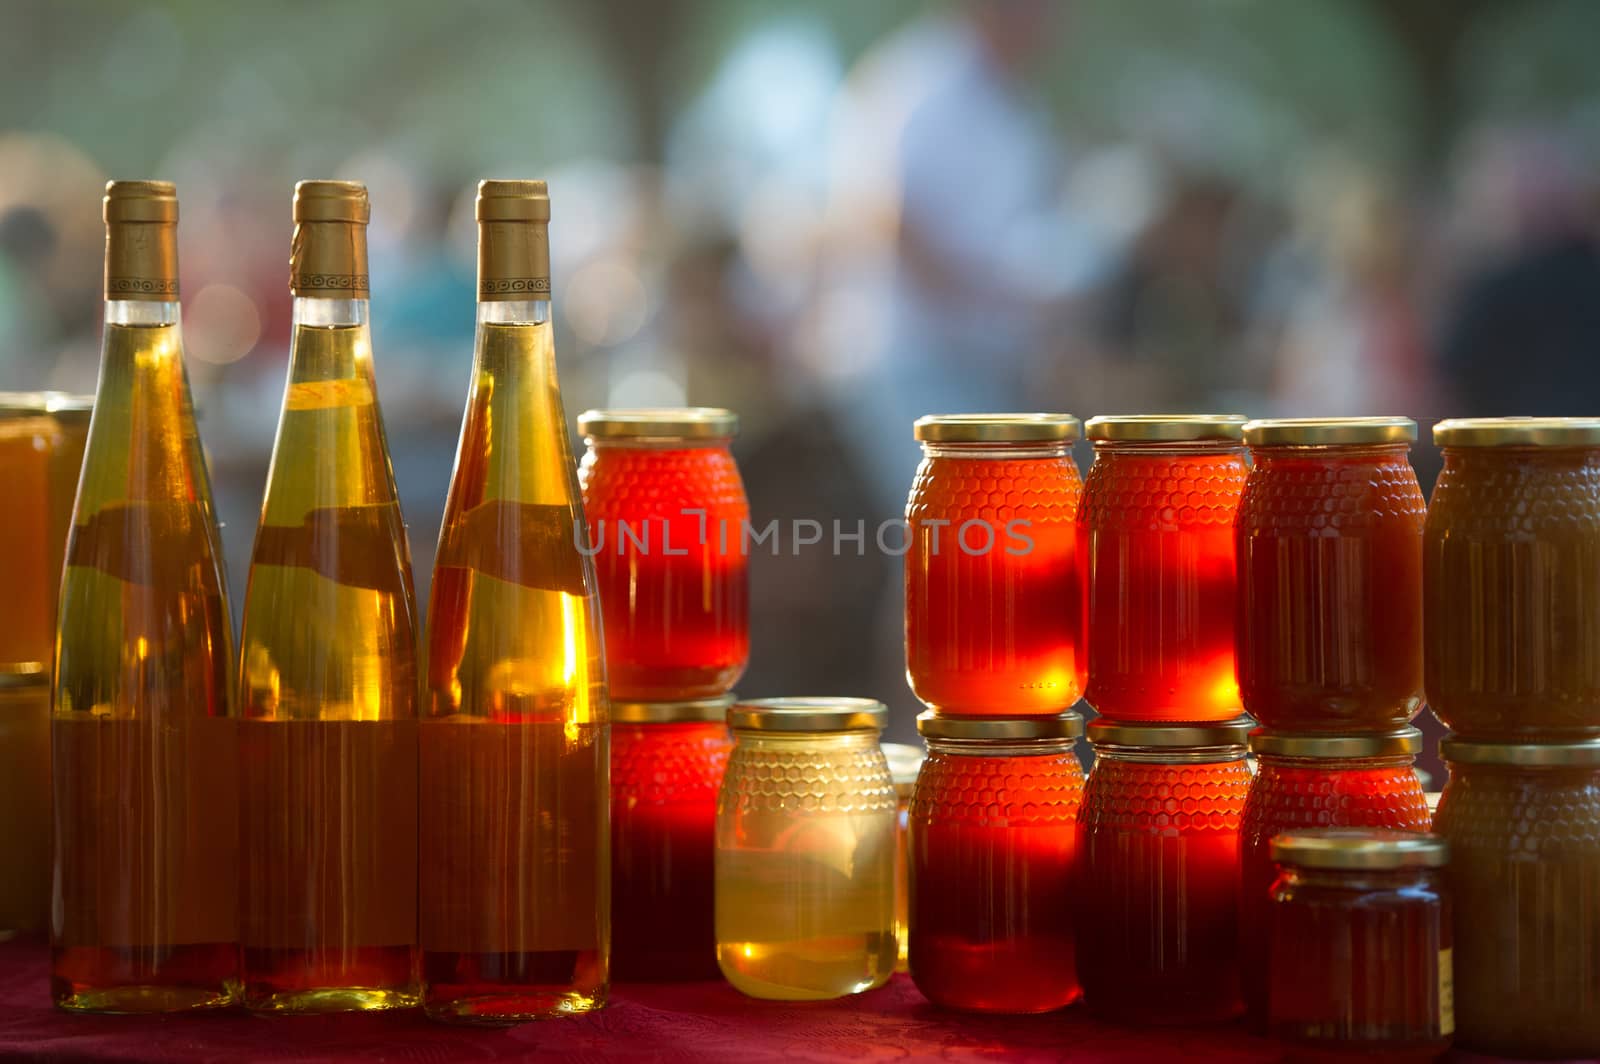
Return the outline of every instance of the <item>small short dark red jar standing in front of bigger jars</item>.
<path id="1" fill-rule="evenodd" d="M 1450 846 L 1307 829 L 1272 840 L 1267 1030 L 1290 1059 L 1434 1061 L 1454 1032 Z"/>

